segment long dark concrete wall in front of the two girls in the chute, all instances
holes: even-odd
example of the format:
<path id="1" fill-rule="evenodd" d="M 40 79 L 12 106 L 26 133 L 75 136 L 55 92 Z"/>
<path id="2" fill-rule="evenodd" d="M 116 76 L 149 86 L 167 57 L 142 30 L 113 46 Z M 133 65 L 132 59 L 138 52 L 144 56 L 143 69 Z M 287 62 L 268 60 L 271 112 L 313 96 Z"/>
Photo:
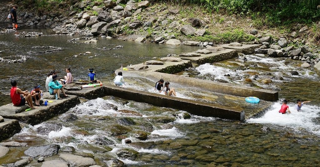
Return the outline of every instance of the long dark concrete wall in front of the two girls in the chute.
<path id="1" fill-rule="evenodd" d="M 104 86 L 104 89 L 106 95 L 116 96 L 136 102 L 145 102 L 160 107 L 169 107 L 184 110 L 198 116 L 216 117 L 238 121 L 244 120 L 244 111 L 237 111 L 232 109 L 231 107 L 229 108 L 217 104 L 210 104 L 206 102 L 182 99 L 179 97 L 172 97 L 168 95 L 137 91 L 135 89 L 117 86 Z"/>

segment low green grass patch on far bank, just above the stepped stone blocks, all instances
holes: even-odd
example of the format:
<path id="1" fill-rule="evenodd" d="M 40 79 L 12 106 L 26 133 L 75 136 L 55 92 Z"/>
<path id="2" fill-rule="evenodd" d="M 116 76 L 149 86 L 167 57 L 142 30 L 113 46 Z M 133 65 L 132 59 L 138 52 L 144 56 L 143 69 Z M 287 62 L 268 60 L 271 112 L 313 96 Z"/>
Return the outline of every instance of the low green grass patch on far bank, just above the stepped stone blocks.
<path id="1" fill-rule="evenodd" d="M 231 42 L 249 42 L 254 41 L 255 37 L 250 34 L 246 34 L 243 30 L 235 29 L 220 34 L 205 34 L 204 36 L 188 36 L 195 41 L 201 42 L 214 42 L 220 43 L 231 43 Z"/>

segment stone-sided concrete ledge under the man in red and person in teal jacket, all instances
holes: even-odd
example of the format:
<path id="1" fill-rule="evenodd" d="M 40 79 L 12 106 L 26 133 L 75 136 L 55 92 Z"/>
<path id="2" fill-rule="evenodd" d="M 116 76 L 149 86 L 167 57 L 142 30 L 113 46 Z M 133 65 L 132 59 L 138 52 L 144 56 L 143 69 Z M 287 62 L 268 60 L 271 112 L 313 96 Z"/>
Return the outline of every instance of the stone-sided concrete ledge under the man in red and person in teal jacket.
<path id="1" fill-rule="evenodd" d="M 16 119 L 22 122 L 26 122 L 30 125 L 39 124 L 45 120 L 48 120 L 54 116 L 67 112 L 70 108 L 75 107 L 80 103 L 77 96 L 70 95 L 69 98 L 63 98 L 62 100 L 52 100 L 48 106 L 43 104 L 37 109 L 29 111 L 23 111 L 21 113 L 15 113 L 16 106 L 12 103 L 0 107 L 0 115 L 7 119 Z M 22 106 L 21 110 L 28 109 L 28 105 Z"/>

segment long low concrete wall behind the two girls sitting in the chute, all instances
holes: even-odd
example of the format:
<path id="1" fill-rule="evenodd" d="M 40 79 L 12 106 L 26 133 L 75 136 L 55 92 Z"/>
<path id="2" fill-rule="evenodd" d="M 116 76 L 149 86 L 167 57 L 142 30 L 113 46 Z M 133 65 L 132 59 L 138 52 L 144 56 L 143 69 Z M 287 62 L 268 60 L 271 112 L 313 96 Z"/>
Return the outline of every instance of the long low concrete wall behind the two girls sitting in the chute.
<path id="1" fill-rule="evenodd" d="M 121 70 L 116 70 L 116 73 Z M 258 89 L 254 87 L 245 87 L 239 85 L 233 85 L 229 83 L 221 83 L 215 82 L 211 80 L 201 80 L 190 77 L 182 77 L 179 75 L 166 74 L 161 72 L 135 72 L 135 71 L 122 71 L 123 76 L 140 76 L 144 78 L 148 78 L 150 80 L 157 81 L 160 78 L 164 80 L 168 80 L 170 82 L 178 83 L 180 85 L 188 86 L 188 87 L 196 87 L 203 90 L 213 91 L 217 93 L 223 93 L 227 95 L 235 95 L 235 96 L 255 96 L 260 98 L 261 100 L 267 101 L 277 101 L 278 100 L 278 92 Z"/>

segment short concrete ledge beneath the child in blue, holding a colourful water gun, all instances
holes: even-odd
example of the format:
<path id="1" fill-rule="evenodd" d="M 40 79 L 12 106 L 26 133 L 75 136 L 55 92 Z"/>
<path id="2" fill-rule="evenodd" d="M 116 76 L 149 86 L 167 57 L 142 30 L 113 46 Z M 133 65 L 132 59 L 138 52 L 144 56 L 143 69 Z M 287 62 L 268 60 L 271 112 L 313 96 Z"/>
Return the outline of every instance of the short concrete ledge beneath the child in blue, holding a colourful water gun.
<path id="1" fill-rule="evenodd" d="M 96 99 L 98 97 L 103 97 L 106 95 L 102 86 L 86 87 L 81 90 L 66 90 L 66 94 L 84 97 L 88 100 Z"/>

